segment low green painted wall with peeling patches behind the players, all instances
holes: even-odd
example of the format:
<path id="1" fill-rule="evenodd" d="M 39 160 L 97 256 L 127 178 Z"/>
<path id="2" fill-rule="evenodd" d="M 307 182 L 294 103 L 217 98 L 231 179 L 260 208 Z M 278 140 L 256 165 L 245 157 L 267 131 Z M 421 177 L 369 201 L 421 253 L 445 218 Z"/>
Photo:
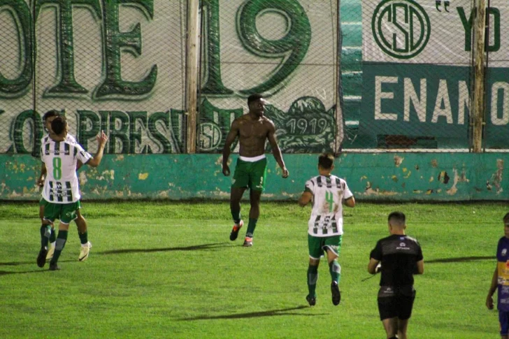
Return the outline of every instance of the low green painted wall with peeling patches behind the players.
<path id="1" fill-rule="evenodd" d="M 347 180 L 359 201 L 509 200 L 509 154 L 343 154 L 334 174 Z M 236 156 L 234 156 L 234 159 Z M 221 173 L 219 154 L 110 155 L 99 168 L 79 171 L 83 199 L 229 198 L 231 178 Z M 264 200 L 294 200 L 317 174 L 317 154 L 286 154 L 288 179 L 268 154 Z M 0 200 L 40 198 L 39 161 L 0 155 Z M 233 172 L 234 164 L 231 165 Z M 247 194 L 246 194 L 247 196 Z"/>

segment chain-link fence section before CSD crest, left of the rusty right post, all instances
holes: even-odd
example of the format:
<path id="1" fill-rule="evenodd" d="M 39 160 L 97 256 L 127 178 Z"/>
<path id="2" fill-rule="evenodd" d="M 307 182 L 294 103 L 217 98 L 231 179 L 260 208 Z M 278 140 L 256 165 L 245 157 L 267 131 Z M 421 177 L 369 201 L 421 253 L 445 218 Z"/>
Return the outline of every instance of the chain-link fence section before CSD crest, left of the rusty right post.
<path id="1" fill-rule="evenodd" d="M 471 147 L 471 0 L 341 1 L 345 148 Z"/>

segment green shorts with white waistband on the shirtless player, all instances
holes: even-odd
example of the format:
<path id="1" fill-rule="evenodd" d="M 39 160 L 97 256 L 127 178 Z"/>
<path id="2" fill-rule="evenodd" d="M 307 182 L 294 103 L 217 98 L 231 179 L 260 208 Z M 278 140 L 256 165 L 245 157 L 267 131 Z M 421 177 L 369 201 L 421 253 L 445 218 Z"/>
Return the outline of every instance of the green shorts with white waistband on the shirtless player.
<path id="1" fill-rule="evenodd" d="M 237 159 L 234 180 L 231 187 L 249 188 L 263 192 L 267 177 L 267 158 L 259 161 L 243 161 Z"/>

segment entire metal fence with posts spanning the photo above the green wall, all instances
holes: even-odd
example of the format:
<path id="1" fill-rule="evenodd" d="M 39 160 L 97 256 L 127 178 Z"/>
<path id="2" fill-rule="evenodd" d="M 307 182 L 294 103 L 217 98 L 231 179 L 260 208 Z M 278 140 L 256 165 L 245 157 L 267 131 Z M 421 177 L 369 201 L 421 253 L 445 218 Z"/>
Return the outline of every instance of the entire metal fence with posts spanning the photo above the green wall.
<path id="1" fill-rule="evenodd" d="M 254 92 L 285 153 L 509 148 L 506 1 L 202 0 L 196 74 L 189 1 L 0 0 L 0 153 L 36 154 L 51 109 L 91 152 L 217 153 Z"/>

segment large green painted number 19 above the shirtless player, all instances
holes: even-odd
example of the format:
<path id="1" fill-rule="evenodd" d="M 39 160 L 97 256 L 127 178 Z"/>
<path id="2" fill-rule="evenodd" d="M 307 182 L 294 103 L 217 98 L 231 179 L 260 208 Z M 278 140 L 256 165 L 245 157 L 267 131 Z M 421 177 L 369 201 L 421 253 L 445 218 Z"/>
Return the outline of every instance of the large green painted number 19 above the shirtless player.
<path id="1" fill-rule="evenodd" d="M 203 0 L 205 28 L 205 64 L 203 94 L 232 94 L 234 91 L 224 86 L 221 78 L 220 50 L 220 0 Z M 226 1 L 224 1 L 226 3 Z M 287 23 L 285 36 L 278 40 L 268 40 L 257 30 L 257 17 L 266 13 L 282 15 Z M 241 94 L 267 92 L 277 88 L 302 62 L 311 41 L 311 26 L 308 15 L 296 0 L 248 0 L 238 8 L 236 15 L 237 34 L 243 47 L 265 59 L 280 59 L 270 78 L 260 85 L 240 89 Z"/>

